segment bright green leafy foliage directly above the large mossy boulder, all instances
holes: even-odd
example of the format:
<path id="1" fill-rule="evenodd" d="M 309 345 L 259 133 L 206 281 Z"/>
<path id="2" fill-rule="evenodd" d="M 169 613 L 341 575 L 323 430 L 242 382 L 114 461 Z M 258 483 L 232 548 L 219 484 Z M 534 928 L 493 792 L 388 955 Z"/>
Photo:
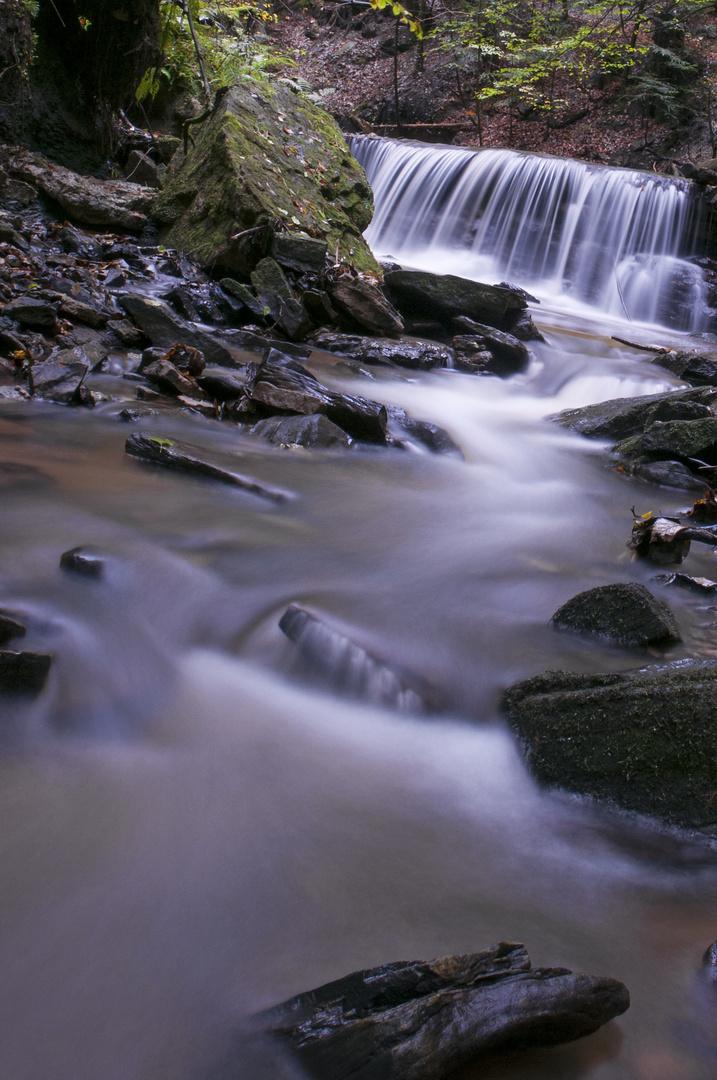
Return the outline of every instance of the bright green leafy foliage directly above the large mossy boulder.
<path id="1" fill-rule="evenodd" d="M 290 63 L 257 32 L 276 16 L 260 0 L 161 0 L 160 50 L 162 60 L 149 68 L 137 87 L 138 100 L 153 98 L 162 84 L 188 84 L 201 92 L 202 81 L 211 90 L 246 75 L 261 75 L 281 63 Z M 195 32 L 192 40 L 190 26 Z M 200 55 L 198 55 L 198 52 Z M 201 69 L 201 70 L 200 70 Z"/>

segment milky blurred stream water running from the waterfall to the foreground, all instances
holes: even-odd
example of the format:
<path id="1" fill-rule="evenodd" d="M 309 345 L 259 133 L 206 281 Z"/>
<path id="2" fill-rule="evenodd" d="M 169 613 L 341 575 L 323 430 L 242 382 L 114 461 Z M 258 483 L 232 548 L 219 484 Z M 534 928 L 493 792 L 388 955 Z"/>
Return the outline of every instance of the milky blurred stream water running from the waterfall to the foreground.
<path id="1" fill-rule="evenodd" d="M 496 281 L 525 266 L 520 280 L 550 301 L 531 307 L 546 343 L 531 343 L 528 372 L 510 380 L 378 368 L 369 380 L 312 359 L 327 383 L 445 427 L 464 461 L 265 448 L 195 415 L 140 421 L 295 492 L 268 509 L 125 456 L 130 429 L 118 414 L 130 382 L 125 402 L 90 414 L 0 405 L 0 604 L 29 621 L 28 648 L 55 654 L 46 693 L 8 712 L 2 732 L 3 1078 L 288 1080 L 298 1074 L 271 1048 L 238 1040 L 247 1014 L 357 968 L 501 939 L 525 942 L 536 964 L 621 978 L 633 1004 L 579 1043 L 497 1055 L 462 1080 L 715 1075 L 717 996 L 695 981 L 717 937 L 714 853 L 537 789 L 498 707 L 502 688 L 546 667 L 717 656 L 708 602 L 679 590 L 668 599 L 684 643 L 667 654 L 549 625 L 582 589 L 649 584 L 654 569 L 625 549 L 631 507 L 689 502 L 620 475 L 600 445 L 544 419 L 678 386 L 611 335 L 684 345 L 676 326 L 702 326 L 699 275 L 689 286 L 694 321 L 667 319 L 665 328 L 648 325 L 659 309 L 644 306 L 641 271 L 633 287 L 630 270 L 654 265 L 668 288 L 678 265 L 684 300 L 689 222 L 675 204 L 685 192 L 646 177 L 647 198 L 662 192 L 682 224 L 650 201 L 639 229 L 654 214 L 655 237 L 645 248 L 617 243 L 615 274 L 645 324 L 636 326 L 608 285 L 581 294 L 581 311 L 574 292 L 562 302 L 574 249 L 540 269 L 540 244 L 515 224 L 508 258 L 497 243 L 455 248 L 430 172 L 418 181 L 422 210 L 409 200 L 411 180 L 396 179 L 394 192 L 384 184 L 391 154 L 409 154 L 417 168 L 442 163 L 444 176 L 451 160 L 468 171 L 462 163 L 481 156 L 369 149 L 373 163 L 355 152 L 376 173 L 377 252 Z M 583 167 L 513 157 L 546 170 L 544 205 L 551 185 L 573 184 L 564 172 Z M 401 167 L 391 166 L 397 178 Z M 491 170 L 488 188 L 473 192 L 481 206 L 500 187 Z M 585 194 L 596 200 L 592 232 L 571 226 L 570 243 L 585 245 L 585 281 L 600 276 L 591 244 L 617 235 L 614 192 L 635 194 L 637 174 L 600 175 L 606 190 Z M 522 174 L 519 184 L 525 199 Z M 455 208 L 457 185 L 441 198 Z M 553 220 L 536 207 L 531 228 Z M 560 207 L 567 219 L 572 211 Z M 625 215 L 638 220 L 634 207 Z M 78 544 L 106 553 L 104 579 L 59 570 L 60 554 Z M 709 549 L 686 568 L 717 569 Z M 416 718 L 300 677 L 278 627 L 292 602 L 420 672 L 441 688 L 446 714 Z"/>

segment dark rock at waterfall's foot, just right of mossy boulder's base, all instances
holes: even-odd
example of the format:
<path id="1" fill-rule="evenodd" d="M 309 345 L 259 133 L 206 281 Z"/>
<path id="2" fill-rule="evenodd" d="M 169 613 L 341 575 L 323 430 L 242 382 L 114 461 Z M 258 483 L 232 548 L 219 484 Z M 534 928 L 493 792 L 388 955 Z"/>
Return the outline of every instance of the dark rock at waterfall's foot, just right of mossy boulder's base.
<path id="1" fill-rule="evenodd" d="M 484 285 L 454 274 L 392 270 L 384 275 L 391 299 L 402 314 L 449 322 L 459 315 L 498 326 L 505 313 L 527 307 L 512 288 Z"/>

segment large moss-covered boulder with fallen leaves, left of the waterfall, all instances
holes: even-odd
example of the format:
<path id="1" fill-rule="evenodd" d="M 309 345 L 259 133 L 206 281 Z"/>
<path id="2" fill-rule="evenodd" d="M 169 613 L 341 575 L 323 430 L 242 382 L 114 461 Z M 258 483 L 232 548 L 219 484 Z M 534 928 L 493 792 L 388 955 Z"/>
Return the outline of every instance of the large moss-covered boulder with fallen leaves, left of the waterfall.
<path id="1" fill-rule="evenodd" d="M 378 272 L 362 237 L 374 213 L 370 188 L 323 109 L 247 78 L 191 134 L 193 145 L 175 154 L 154 205 L 164 243 L 204 266 L 248 275 L 284 229 Z M 246 230 L 254 231 L 238 235 Z"/>

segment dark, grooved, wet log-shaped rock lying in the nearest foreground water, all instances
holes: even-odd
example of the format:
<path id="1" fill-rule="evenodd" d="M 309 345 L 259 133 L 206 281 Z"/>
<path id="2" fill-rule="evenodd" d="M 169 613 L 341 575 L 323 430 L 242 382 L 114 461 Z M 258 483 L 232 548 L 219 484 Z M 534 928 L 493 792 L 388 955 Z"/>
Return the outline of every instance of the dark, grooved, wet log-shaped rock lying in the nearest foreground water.
<path id="1" fill-rule="evenodd" d="M 356 971 L 260 1013 L 313 1080 L 444 1077 L 497 1049 L 581 1038 L 630 1005 L 612 978 L 532 968 L 523 945 Z"/>

